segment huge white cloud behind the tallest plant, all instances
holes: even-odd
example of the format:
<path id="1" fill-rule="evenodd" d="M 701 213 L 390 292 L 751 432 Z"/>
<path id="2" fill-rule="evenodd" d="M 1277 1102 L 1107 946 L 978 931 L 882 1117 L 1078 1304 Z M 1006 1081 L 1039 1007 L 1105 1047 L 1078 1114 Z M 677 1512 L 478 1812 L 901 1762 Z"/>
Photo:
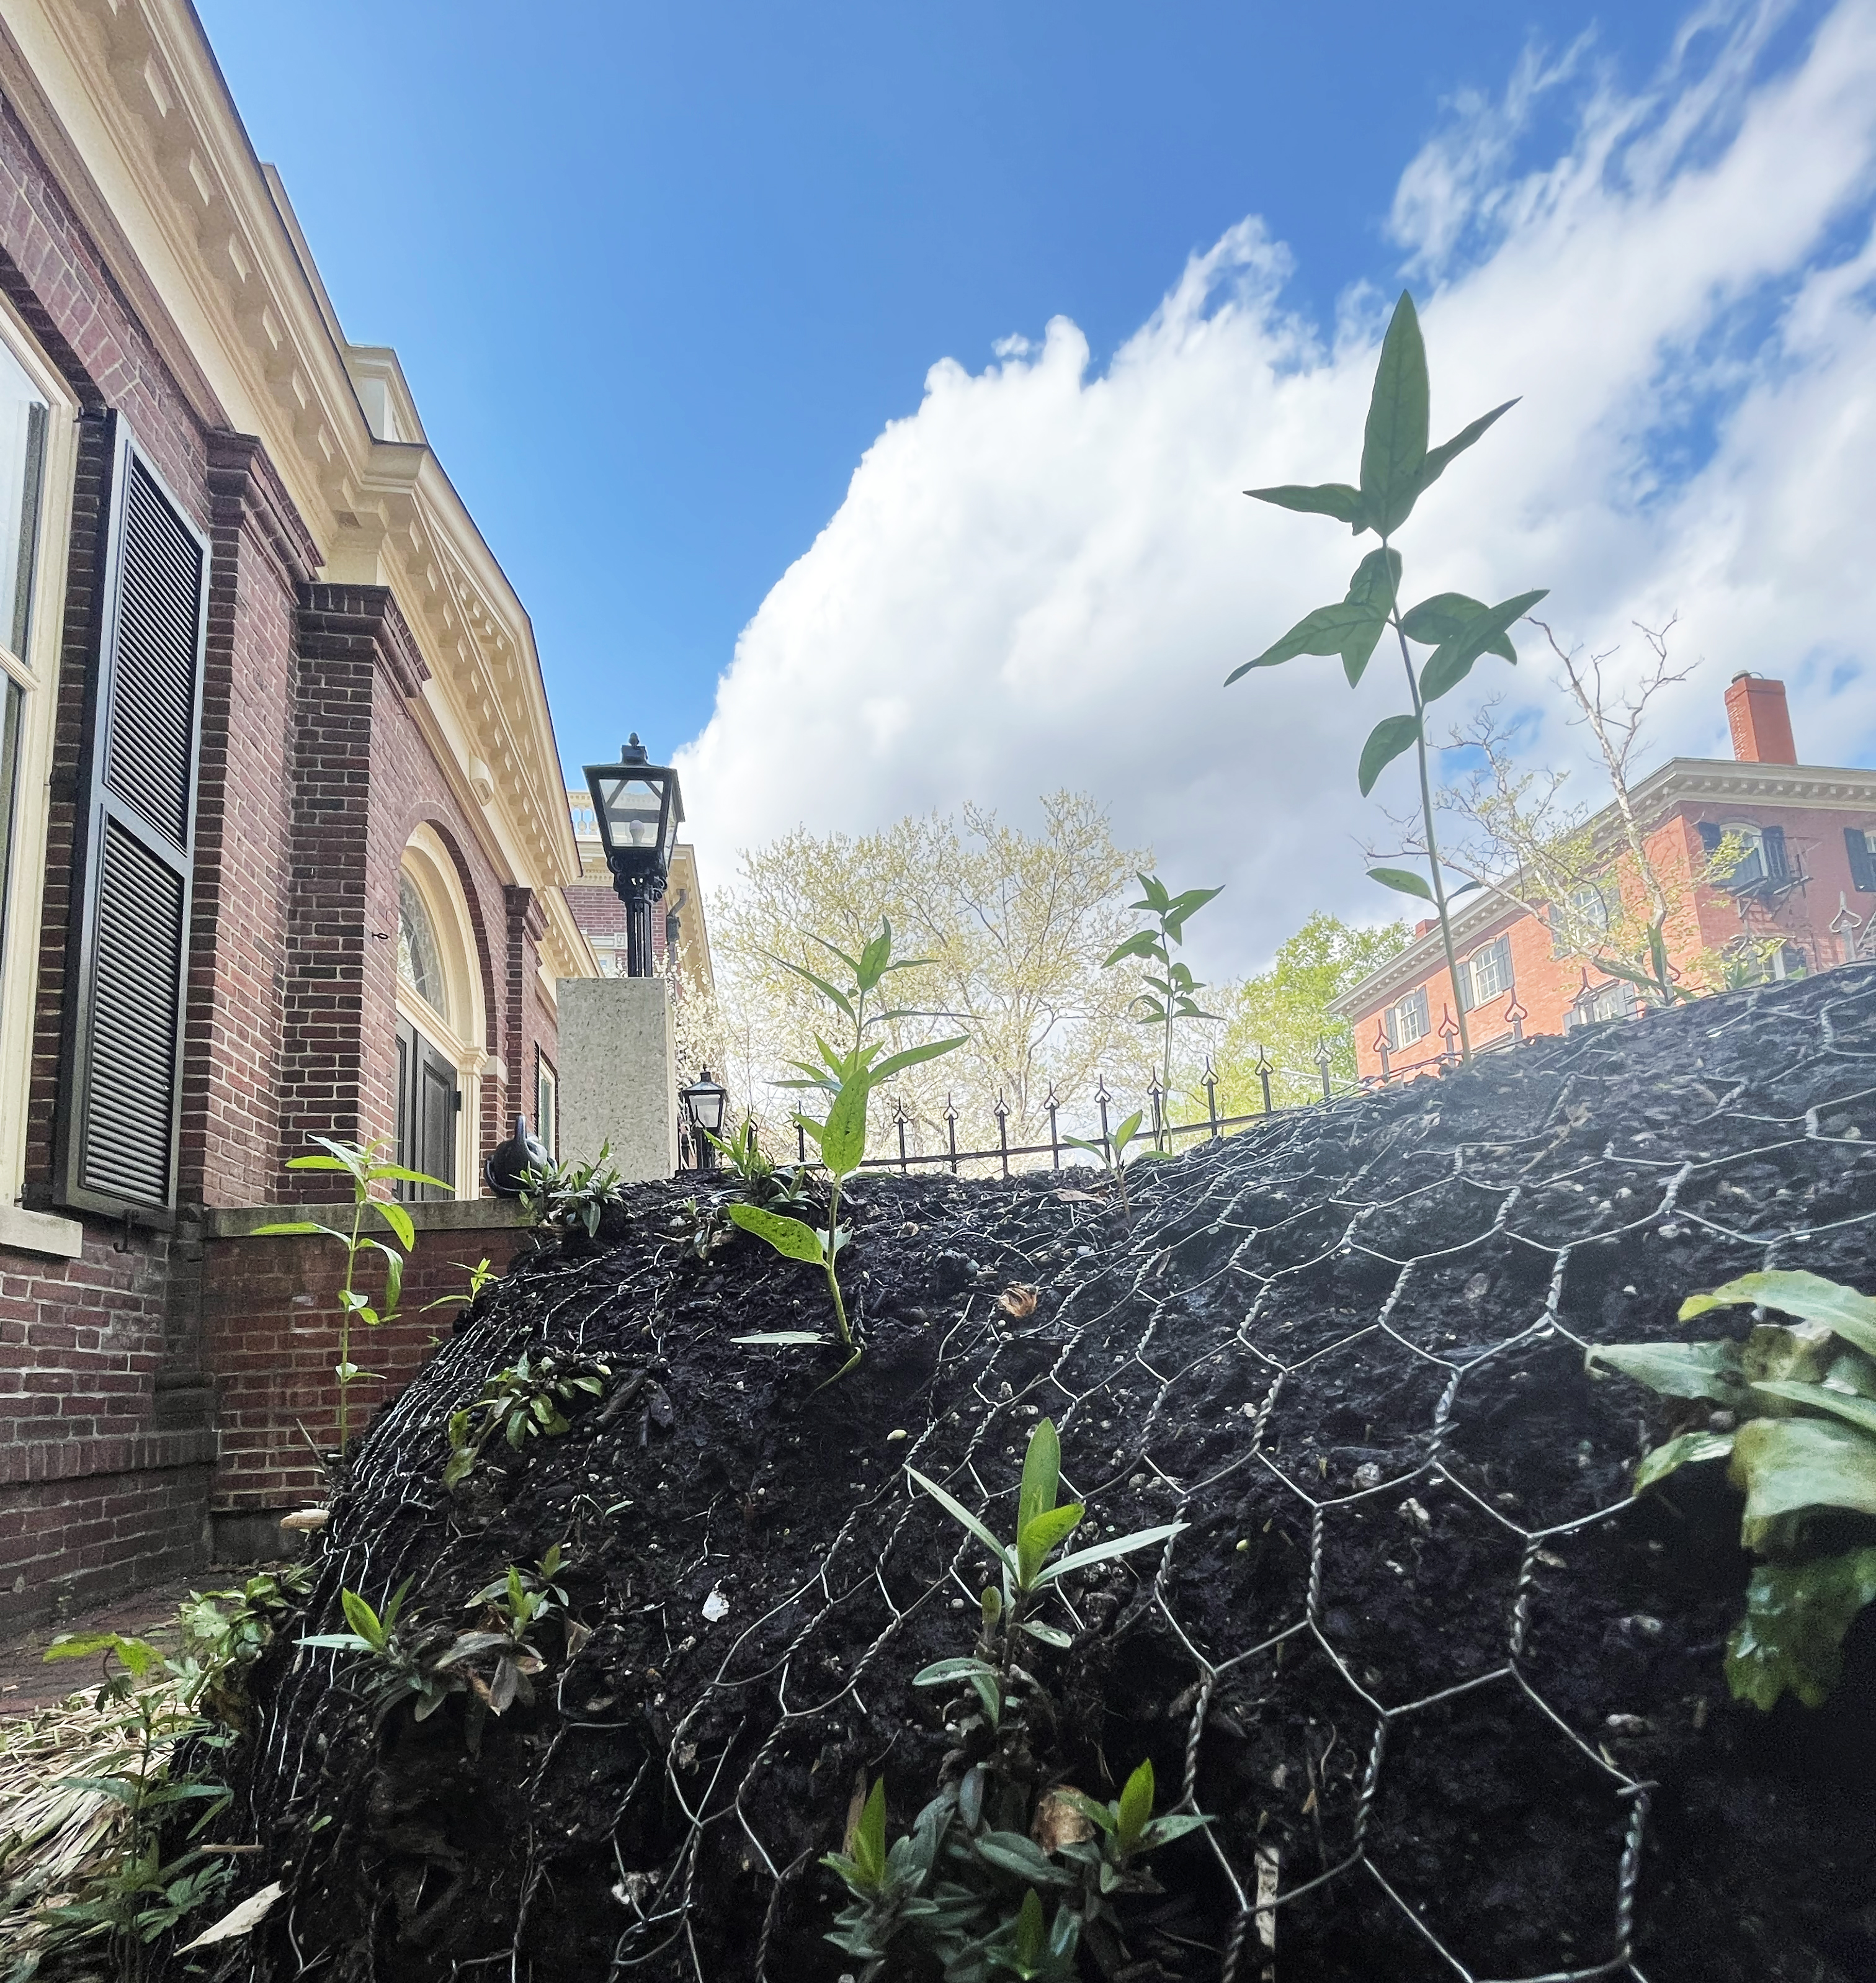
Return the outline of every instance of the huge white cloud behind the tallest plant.
<path id="1" fill-rule="evenodd" d="M 1876 742 L 1876 0 L 1842 0 L 1767 73 L 1779 20 L 1690 16 L 1644 93 L 1588 44 L 1531 58 L 1402 175 L 1436 432 L 1523 395 L 1402 551 L 1410 597 L 1549 585 L 1547 613 L 1596 644 L 1678 609 L 1705 664 L 1664 752 L 1723 752 L 1721 688 L 1751 666 L 1791 684 L 1807 758 L 1858 761 Z M 1577 93 L 1571 141 L 1521 171 L 1555 91 Z M 1360 740 L 1400 700 L 1384 662 L 1356 694 L 1321 658 L 1220 686 L 1341 597 L 1364 547 L 1239 494 L 1352 480 L 1358 458 L 1384 299 L 1347 297 L 1325 335 L 1285 309 L 1287 270 L 1247 218 L 1101 375 L 1065 317 L 982 373 L 932 367 L 680 754 L 706 873 L 801 821 L 964 799 L 1023 817 L 1071 785 L 1174 882 L 1230 884 L 1202 966 L 1255 966 L 1313 908 L 1388 910 L 1358 849 L 1384 825 L 1354 791 Z M 1575 740 L 1527 662 L 1487 662 L 1481 692 L 1531 696 L 1557 761 Z M 1402 761 L 1376 797 L 1404 805 L 1408 781 Z"/>

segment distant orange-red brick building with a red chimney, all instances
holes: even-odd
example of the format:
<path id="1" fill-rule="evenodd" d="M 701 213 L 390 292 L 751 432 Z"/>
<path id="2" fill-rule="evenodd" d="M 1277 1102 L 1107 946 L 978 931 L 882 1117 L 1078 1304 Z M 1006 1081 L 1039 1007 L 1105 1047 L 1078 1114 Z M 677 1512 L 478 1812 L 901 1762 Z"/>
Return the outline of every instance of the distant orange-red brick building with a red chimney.
<path id="1" fill-rule="evenodd" d="M 1731 758 L 1670 758 L 1632 791 L 1670 904 L 1670 964 L 1690 978 L 1696 960 L 1785 978 L 1876 954 L 1876 771 L 1799 763 L 1783 682 L 1741 674 L 1725 704 Z M 1475 1051 L 1640 1011 L 1632 984 L 1567 940 L 1606 924 L 1638 886 L 1620 859 L 1616 809 L 1586 835 L 1608 847 L 1610 867 L 1577 890 L 1569 918 L 1489 888 L 1460 900 L 1458 995 L 1428 918 L 1400 956 L 1331 1003 L 1354 1027 L 1362 1079 L 1450 1055 L 1460 997 Z"/>

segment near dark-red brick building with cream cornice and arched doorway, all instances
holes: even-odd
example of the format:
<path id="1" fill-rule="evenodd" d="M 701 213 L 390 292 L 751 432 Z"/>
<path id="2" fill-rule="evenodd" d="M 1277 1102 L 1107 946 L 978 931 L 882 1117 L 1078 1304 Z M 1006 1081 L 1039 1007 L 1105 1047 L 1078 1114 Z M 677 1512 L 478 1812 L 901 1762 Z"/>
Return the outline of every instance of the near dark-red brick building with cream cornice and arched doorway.
<path id="1" fill-rule="evenodd" d="M 8 0 L 0 292 L 4 1632 L 317 1483 L 288 1160 L 448 1180 L 395 1378 L 516 1243 L 482 1158 L 597 962 L 528 615 L 188 0 Z"/>

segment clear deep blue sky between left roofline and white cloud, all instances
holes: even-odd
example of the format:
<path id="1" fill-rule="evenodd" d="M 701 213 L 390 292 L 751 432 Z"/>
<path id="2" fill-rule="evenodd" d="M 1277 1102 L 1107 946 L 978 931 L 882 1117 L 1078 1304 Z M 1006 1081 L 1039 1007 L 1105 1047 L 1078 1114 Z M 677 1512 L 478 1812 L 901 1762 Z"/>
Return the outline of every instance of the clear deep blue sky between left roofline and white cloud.
<path id="1" fill-rule="evenodd" d="M 1289 244 L 1285 305 L 1331 323 L 1350 284 L 1394 284 L 1394 184 L 1456 99 L 1590 28 L 1634 83 L 1684 14 L 198 6 L 341 321 L 397 345 L 533 613 L 573 763 L 704 726 L 934 361 L 978 371 L 1061 313 L 1099 369 L 1245 214 Z"/>

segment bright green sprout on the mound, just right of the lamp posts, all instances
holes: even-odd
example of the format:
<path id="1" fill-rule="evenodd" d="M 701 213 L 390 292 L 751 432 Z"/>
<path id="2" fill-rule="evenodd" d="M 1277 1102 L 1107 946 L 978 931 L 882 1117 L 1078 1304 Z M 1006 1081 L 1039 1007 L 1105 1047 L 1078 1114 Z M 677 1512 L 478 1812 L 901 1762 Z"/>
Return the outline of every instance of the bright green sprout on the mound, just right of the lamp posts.
<path id="1" fill-rule="evenodd" d="M 867 1011 L 867 999 L 879 992 L 892 972 L 914 970 L 926 960 L 904 958 L 894 964 L 892 924 L 884 918 L 880 918 L 879 936 L 875 936 L 857 958 L 851 958 L 845 950 L 829 944 L 825 938 L 815 938 L 815 942 L 839 958 L 849 972 L 853 972 L 851 986 L 843 990 L 801 964 L 787 964 L 785 958 L 777 958 L 775 962 L 785 964 L 785 968 L 797 978 L 805 978 L 829 1005 L 841 1011 L 853 1029 L 853 1039 L 843 1051 L 837 1051 L 817 1035 L 815 1045 L 821 1049 L 821 1063 L 791 1063 L 801 1069 L 803 1079 L 779 1085 L 791 1089 L 821 1089 L 831 1097 L 825 1120 L 817 1122 L 813 1116 L 795 1114 L 795 1122 L 809 1142 L 813 1142 L 821 1158 L 821 1168 L 827 1172 L 827 1225 L 825 1229 L 815 1227 L 805 1220 L 787 1218 L 785 1214 L 769 1212 L 763 1206 L 730 1206 L 728 1212 L 744 1231 L 750 1231 L 758 1239 L 771 1245 L 783 1259 L 805 1261 L 811 1267 L 819 1267 L 827 1277 L 827 1299 L 833 1303 L 835 1329 L 839 1331 L 839 1341 L 847 1350 L 847 1360 L 839 1370 L 835 1370 L 833 1378 L 827 1380 L 831 1384 L 835 1378 L 845 1376 L 861 1360 L 861 1342 L 853 1333 L 853 1325 L 847 1321 L 847 1301 L 841 1293 L 837 1263 L 841 1247 L 851 1237 L 841 1225 L 841 1186 L 861 1168 L 867 1156 L 867 1103 L 882 1081 L 890 1081 L 892 1075 L 904 1073 L 908 1067 L 918 1067 L 920 1061 L 932 1061 L 940 1053 L 950 1053 L 954 1047 L 962 1047 L 964 1037 L 932 1039 L 924 1045 L 904 1047 L 898 1053 L 888 1053 L 880 1059 L 886 1043 L 882 1039 L 867 1039 L 867 1027 L 886 1025 L 892 1019 L 914 1015 L 892 1009 Z M 777 1329 L 767 1331 L 765 1335 L 732 1337 L 732 1341 L 807 1344 L 825 1342 L 827 1339 L 815 1331 Z"/>

